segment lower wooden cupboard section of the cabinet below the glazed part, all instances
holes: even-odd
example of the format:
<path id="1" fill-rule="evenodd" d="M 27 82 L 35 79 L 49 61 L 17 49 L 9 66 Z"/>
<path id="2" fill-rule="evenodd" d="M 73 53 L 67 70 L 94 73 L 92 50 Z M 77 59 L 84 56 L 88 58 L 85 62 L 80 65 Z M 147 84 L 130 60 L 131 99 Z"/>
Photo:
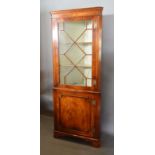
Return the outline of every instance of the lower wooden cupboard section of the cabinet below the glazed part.
<path id="1" fill-rule="evenodd" d="M 55 135 L 69 135 L 99 143 L 100 93 L 54 90 Z"/>

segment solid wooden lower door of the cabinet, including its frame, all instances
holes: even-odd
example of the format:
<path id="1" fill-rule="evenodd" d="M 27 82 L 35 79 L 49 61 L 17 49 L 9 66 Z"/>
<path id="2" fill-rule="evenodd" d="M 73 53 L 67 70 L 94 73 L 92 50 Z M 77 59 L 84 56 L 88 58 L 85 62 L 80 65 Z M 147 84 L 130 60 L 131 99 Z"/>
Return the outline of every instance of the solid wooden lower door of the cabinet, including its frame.
<path id="1" fill-rule="evenodd" d="M 97 98 L 94 95 L 55 92 L 55 130 L 82 136 L 95 136 Z M 89 97 L 88 97 L 89 96 Z"/>

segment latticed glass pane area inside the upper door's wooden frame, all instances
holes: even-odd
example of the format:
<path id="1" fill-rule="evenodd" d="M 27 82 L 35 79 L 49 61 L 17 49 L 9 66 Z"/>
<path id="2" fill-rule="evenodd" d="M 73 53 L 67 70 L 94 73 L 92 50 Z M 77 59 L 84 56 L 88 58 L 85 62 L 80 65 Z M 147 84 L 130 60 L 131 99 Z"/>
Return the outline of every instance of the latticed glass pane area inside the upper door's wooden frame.
<path id="1" fill-rule="evenodd" d="M 91 20 L 59 23 L 60 84 L 92 86 L 92 28 Z"/>

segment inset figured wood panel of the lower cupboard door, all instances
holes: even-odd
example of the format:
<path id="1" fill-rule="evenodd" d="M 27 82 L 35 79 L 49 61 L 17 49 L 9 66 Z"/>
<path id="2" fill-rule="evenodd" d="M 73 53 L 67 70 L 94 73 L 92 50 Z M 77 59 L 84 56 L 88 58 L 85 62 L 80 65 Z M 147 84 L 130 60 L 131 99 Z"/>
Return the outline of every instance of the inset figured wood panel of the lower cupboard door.
<path id="1" fill-rule="evenodd" d="M 60 97 L 60 125 L 71 130 L 88 132 L 91 127 L 91 104 L 88 98 Z"/>

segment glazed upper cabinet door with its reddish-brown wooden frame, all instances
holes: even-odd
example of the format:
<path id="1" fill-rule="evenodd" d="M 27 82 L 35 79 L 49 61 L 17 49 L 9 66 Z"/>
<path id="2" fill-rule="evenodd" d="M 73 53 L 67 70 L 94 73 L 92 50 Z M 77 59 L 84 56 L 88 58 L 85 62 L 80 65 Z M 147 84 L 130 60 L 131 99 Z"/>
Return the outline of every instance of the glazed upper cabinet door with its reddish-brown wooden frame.
<path id="1" fill-rule="evenodd" d="M 53 19 L 55 87 L 96 88 L 97 23 L 96 17 Z"/>

